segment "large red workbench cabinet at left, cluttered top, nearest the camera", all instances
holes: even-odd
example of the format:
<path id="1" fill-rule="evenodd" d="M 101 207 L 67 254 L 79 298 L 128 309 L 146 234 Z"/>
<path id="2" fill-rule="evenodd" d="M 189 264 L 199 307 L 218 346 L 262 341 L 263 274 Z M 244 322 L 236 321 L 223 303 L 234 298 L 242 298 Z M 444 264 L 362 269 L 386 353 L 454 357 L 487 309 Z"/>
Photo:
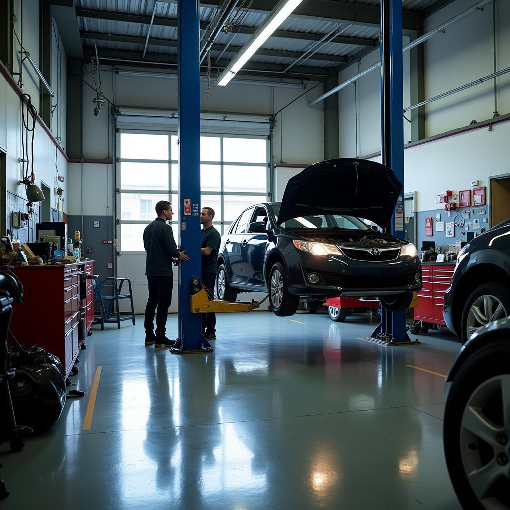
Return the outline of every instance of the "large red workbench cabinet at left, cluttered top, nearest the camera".
<path id="1" fill-rule="evenodd" d="M 13 271 L 24 290 L 23 302 L 13 305 L 12 333 L 20 343 L 40 345 L 58 356 L 67 377 L 83 343 L 81 337 L 94 319 L 93 280 L 85 278 L 92 275 L 94 262 L 2 269 Z M 85 321 L 82 334 L 80 316 Z"/>

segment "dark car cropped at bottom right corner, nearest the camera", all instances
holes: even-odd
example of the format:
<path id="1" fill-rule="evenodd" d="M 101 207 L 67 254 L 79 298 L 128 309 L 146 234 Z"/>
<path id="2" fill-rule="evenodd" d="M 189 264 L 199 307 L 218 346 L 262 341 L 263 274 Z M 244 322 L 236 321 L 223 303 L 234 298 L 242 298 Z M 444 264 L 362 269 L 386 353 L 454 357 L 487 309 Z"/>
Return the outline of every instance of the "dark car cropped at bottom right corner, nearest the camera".
<path id="1" fill-rule="evenodd" d="M 463 508 L 510 508 L 510 318 L 479 328 L 445 383 L 446 465 Z"/>

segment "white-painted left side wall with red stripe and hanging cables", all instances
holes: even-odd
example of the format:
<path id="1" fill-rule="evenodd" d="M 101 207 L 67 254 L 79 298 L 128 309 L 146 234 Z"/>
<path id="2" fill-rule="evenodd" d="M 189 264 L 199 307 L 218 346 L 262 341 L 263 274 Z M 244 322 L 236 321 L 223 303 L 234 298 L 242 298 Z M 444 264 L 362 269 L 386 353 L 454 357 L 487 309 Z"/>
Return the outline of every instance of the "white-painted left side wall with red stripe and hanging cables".
<path id="1" fill-rule="evenodd" d="M 20 27 L 20 2 L 15 2 L 16 16 L 18 22 L 16 23 L 16 31 L 21 38 Z M 23 5 L 23 46 L 30 52 L 35 62 L 39 62 L 39 2 L 32 0 L 31 2 L 24 2 Z M 16 43 L 14 47 L 14 55 L 17 56 L 19 52 L 19 45 Z M 63 48 L 61 48 L 63 53 Z M 52 59 L 57 62 L 57 46 L 54 42 L 52 44 Z M 63 64 L 63 84 L 62 89 L 62 111 L 65 112 L 65 53 L 61 57 Z M 18 69 L 16 64 L 16 57 L 14 63 L 15 70 Z M 17 76 L 14 76 L 17 81 Z M 56 91 L 56 74 L 50 80 L 50 86 Z M 30 66 L 23 64 L 23 92 L 29 93 L 32 96 L 32 103 L 39 111 L 39 79 Z M 56 100 L 56 98 L 54 99 Z M 55 104 L 55 103 L 53 103 Z M 57 109 L 56 109 L 57 111 Z M 65 114 L 64 114 L 65 115 Z M 63 129 L 65 130 L 65 117 L 63 118 Z M 22 178 L 21 163 L 19 158 L 22 155 L 21 149 L 21 101 L 17 93 L 13 90 L 10 84 L 6 81 L 3 75 L 0 75 L 0 145 L 7 150 L 7 190 L 12 191 L 20 196 L 24 195 L 22 186 L 18 186 L 18 181 Z M 57 136 L 56 122 L 52 122 L 49 126 L 53 135 Z M 65 135 L 63 134 L 65 141 Z M 31 138 L 29 137 L 29 144 Z M 57 156 L 57 166 L 60 175 L 64 176 L 67 181 L 67 161 L 60 151 L 56 149 L 55 144 L 50 137 L 43 130 L 43 127 L 37 123 L 35 127 L 35 144 L 34 144 L 34 170 L 36 175 L 36 184 L 41 185 L 41 181 L 45 182 L 50 188 L 52 193 L 46 197 L 51 201 L 52 207 L 55 207 L 57 196 L 54 194 L 56 185 L 57 171 L 55 168 L 55 157 Z M 69 196 L 67 195 L 67 182 L 60 183 L 60 187 L 64 189 L 64 211 L 67 212 L 67 204 L 69 203 Z"/>

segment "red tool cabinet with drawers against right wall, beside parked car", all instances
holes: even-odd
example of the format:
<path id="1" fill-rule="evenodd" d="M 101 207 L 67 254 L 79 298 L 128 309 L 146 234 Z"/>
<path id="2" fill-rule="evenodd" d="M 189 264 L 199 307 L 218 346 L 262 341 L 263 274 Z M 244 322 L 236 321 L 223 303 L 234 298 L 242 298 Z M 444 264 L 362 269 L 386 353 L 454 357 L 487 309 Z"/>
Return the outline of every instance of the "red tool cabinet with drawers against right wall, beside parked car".
<path id="1" fill-rule="evenodd" d="M 422 263 L 423 289 L 418 293 L 416 321 L 446 326 L 443 319 L 444 293 L 450 287 L 455 264 Z"/>

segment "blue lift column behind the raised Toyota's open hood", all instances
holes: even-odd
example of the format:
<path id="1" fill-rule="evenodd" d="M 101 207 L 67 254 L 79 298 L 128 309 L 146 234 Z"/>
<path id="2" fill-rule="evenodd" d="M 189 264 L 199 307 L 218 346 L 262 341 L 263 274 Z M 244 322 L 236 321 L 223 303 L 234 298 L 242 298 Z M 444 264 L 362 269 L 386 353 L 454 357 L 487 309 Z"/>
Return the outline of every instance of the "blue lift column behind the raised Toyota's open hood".
<path id="1" fill-rule="evenodd" d="M 381 162 L 395 172 L 404 184 L 402 0 L 380 2 L 381 59 Z M 404 189 L 391 222 L 391 234 L 404 238 Z M 381 323 L 371 340 L 385 344 L 411 341 L 405 327 L 405 312 L 381 308 Z"/>

